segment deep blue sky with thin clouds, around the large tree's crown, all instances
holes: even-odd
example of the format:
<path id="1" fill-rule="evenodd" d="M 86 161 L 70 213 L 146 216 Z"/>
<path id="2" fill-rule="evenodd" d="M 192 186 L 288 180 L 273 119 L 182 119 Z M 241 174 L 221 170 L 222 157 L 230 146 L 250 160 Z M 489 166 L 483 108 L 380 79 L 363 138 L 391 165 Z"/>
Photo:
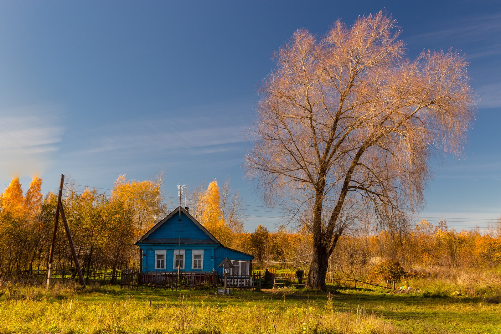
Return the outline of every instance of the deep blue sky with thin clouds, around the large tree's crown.
<path id="1" fill-rule="evenodd" d="M 431 162 L 418 215 L 484 227 L 501 214 L 501 4 L 498 1 L 0 2 L 0 191 L 33 175 L 44 193 L 60 174 L 109 189 L 119 174 L 165 170 L 165 192 L 229 176 L 248 205 L 248 230 L 274 229 L 243 179 L 256 87 L 299 28 L 386 10 L 408 57 L 460 50 L 480 96 L 461 159 Z M 256 211 L 251 211 L 256 210 Z M 429 218 L 437 220 L 438 218 Z"/>

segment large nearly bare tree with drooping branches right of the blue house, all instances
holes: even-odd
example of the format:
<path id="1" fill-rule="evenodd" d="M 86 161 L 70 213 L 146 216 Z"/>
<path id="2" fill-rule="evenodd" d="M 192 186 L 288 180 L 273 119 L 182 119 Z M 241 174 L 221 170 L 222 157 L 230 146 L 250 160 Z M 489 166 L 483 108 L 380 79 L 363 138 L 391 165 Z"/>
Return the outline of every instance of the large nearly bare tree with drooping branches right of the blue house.
<path id="1" fill-rule="evenodd" d="M 357 219 L 395 229 L 424 202 L 430 155 L 460 155 L 474 119 L 464 57 L 411 61 L 398 36 L 382 12 L 321 38 L 298 30 L 261 89 L 247 175 L 311 228 L 311 288 L 326 289 L 329 256 Z"/>

